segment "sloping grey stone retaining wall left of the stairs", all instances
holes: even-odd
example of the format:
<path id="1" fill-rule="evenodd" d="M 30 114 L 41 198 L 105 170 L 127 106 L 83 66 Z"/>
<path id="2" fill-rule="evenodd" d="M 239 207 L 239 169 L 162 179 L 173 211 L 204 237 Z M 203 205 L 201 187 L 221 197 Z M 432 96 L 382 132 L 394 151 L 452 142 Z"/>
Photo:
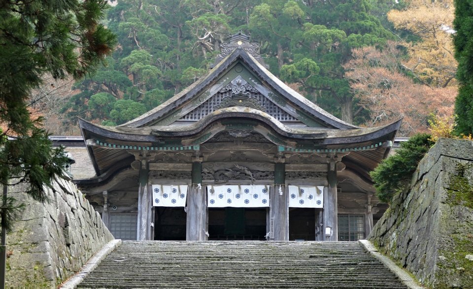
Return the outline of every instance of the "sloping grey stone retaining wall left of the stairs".
<path id="1" fill-rule="evenodd" d="M 26 209 L 6 239 L 7 287 L 57 287 L 113 240 L 99 213 L 70 181 L 57 179 L 44 204 L 23 193 L 22 186 L 9 190 Z"/>

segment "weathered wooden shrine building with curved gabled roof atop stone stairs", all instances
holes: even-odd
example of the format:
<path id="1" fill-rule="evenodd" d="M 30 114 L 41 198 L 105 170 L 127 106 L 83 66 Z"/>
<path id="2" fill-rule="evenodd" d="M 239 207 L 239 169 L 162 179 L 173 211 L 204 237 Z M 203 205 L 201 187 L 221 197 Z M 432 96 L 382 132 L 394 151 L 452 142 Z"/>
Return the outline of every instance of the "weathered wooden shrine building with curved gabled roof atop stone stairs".
<path id="1" fill-rule="evenodd" d="M 238 33 L 158 107 L 116 127 L 79 125 L 96 176 L 75 182 L 117 239 L 355 241 L 387 208 L 369 172 L 401 120 L 339 120 Z"/>

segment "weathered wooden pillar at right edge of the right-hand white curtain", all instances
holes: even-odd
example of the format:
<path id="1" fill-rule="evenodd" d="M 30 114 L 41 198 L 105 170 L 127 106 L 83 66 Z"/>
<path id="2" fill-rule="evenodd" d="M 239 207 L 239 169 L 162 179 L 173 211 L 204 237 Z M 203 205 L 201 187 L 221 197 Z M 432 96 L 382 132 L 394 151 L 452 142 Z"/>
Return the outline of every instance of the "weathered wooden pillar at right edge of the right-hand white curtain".
<path id="1" fill-rule="evenodd" d="M 338 207 L 337 207 L 337 168 L 335 160 L 328 161 L 327 181 L 329 186 L 324 190 L 324 226 L 325 241 L 338 241 Z M 331 235 L 327 235 L 327 227 L 332 228 Z"/>

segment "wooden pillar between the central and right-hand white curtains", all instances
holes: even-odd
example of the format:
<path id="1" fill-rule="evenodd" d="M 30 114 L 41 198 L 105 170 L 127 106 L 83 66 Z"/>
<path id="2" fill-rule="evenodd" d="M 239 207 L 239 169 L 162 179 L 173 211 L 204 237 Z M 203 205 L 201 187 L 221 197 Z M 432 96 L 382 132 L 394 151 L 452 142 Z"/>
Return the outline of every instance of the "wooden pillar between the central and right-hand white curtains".
<path id="1" fill-rule="evenodd" d="M 286 192 L 286 165 L 274 164 L 274 190 L 270 205 L 270 240 L 289 240 L 289 207 Z"/>

